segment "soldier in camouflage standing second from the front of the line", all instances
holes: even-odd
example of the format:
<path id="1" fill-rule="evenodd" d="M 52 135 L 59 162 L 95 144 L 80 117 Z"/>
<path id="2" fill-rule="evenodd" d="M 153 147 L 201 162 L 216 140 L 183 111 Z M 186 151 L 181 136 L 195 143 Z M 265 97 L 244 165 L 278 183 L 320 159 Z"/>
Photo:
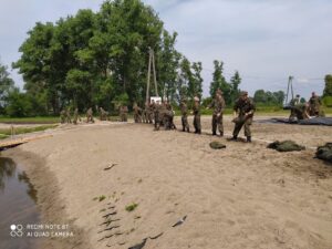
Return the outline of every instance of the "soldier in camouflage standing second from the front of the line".
<path id="1" fill-rule="evenodd" d="M 212 135 L 217 135 L 217 128 L 220 133 L 220 136 L 224 136 L 224 124 L 222 124 L 222 114 L 225 110 L 225 100 L 222 97 L 222 92 L 218 90 L 216 92 L 216 97 L 212 103 L 208 106 L 208 108 L 214 107 L 212 114 Z"/>

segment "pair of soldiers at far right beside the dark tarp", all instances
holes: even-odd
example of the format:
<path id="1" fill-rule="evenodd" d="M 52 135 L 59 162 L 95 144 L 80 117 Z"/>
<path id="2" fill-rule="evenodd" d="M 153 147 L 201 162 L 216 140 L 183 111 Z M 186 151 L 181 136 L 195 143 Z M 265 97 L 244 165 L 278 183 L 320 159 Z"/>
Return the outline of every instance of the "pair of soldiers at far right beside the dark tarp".
<path id="1" fill-rule="evenodd" d="M 324 113 L 321 111 L 321 98 L 315 92 L 311 93 L 311 97 L 307 103 L 301 103 L 300 95 L 297 95 L 290 103 L 291 114 L 289 120 L 292 122 L 295 120 L 308 120 L 313 116 L 324 116 Z"/>

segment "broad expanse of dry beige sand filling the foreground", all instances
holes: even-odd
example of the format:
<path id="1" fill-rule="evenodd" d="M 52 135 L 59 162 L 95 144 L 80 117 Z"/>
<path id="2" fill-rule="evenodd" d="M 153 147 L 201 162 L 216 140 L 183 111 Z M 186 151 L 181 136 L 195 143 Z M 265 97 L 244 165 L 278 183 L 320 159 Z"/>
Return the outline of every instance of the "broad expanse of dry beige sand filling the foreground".
<path id="1" fill-rule="evenodd" d="M 210 133 L 210 117 L 203 126 Z M 225 127 L 231 134 L 230 117 Z M 317 146 L 332 142 L 332 127 L 253 124 L 252 132 L 259 141 L 246 144 L 104 122 L 61 126 L 4 155 L 25 167 L 44 220 L 69 222 L 75 232 L 44 248 L 122 249 L 164 232 L 144 249 L 331 249 L 331 165 L 313 149 L 281 154 L 262 141 Z M 212 151 L 216 139 L 227 148 Z M 126 211 L 133 203 L 138 207 Z M 113 211 L 114 228 L 98 234 Z"/>

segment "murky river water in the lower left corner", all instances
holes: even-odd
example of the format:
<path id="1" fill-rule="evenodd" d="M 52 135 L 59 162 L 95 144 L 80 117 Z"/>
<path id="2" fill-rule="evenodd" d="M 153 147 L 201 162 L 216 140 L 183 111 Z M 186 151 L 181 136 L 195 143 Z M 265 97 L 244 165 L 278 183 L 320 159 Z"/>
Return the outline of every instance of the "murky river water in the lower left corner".
<path id="1" fill-rule="evenodd" d="M 37 191 L 27 174 L 11 158 L 0 156 L 0 249 L 37 249 L 27 225 L 40 222 Z"/>

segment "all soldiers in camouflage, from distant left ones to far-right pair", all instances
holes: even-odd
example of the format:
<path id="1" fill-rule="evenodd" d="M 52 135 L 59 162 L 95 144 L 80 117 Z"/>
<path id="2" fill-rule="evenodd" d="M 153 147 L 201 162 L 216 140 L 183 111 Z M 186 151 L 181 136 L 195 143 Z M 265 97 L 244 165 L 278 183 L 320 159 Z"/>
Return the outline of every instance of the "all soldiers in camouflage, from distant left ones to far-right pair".
<path id="1" fill-rule="evenodd" d="M 300 96 L 297 95 L 295 98 L 291 101 L 291 118 L 305 120 L 311 116 L 320 116 L 321 111 L 321 100 L 313 92 L 310 101 L 308 103 L 300 103 Z M 220 90 L 216 91 L 216 95 L 207 108 L 212 108 L 212 120 L 211 120 L 211 129 L 212 135 L 217 135 L 217 132 L 220 136 L 224 136 L 224 111 L 226 108 L 225 98 Z M 97 108 L 100 111 L 101 121 L 110 121 L 108 112 L 102 107 Z M 251 98 L 248 96 L 248 92 L 242 91 L 239 98 L 235 102 L 234 105 L 234 120 L 235 128 L 232 132 L 232 141 L 237 141 L 238 135 L 241 128 L 245 128 L 245 136 L 247 142 L 251 142 L 251 124 L 255 114 L 256 107 Z M 118 108 L 120 121 L 127 122 L 128 107 L 126 105 L 121 105 Z M 170 103 L 167 100 L 164 101 L 152 101 L 146 102 L 144 108 L 141 108 L 136 103 L 133 105 L 134 121 L 135 123 L 148 123 L 154 124 L 155 129 L 158 131 L 162 126 L 165 129 L 176 129 L 174 124 L 174 111 Z M 188 115 L 194 115 L 194 128 L 196 134 L 201 134 L 200 125 L 200 100 L 198 96 L 194 97 L 193 108 L 189 112 L 188 101 L 186 97 L 180 100 L 180 112 L 181 112 L 181 126 L 183 132 L 190 132 L 190 125 L 188 123 Z M 79 115 L 79 110 L 75 108 L 73 113 L 73 121 L 71 118 L 70 108 L 63 110 L 61 112 L 61 123 L 73 123 L 77 124 L 77 121 L 81 121 Z M 89 108 L 86 112 L 86 123 L 94 123 L 93 111 Z"/>

